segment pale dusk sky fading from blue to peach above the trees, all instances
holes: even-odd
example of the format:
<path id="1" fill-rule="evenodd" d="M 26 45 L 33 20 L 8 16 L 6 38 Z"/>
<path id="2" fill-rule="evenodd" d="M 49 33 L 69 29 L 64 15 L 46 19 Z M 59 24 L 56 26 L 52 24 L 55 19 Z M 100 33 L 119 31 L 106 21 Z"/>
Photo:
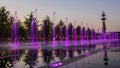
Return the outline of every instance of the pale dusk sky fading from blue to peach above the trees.
<path id="1" fill-rule="evenodd" d="M 48 15 L 51 20 L 55 16 L 55 24 L 60 19 L 65 22 L 68 18 L 68 22 L 73 23 L 75 20 L 77 25 L 83 22 L 82 26 L 96 30 L 102 29 L 101 14 L 104 11 L 107 32 L 120 32 L 120 0 L 0 0 L 0 6 L 6 6 L 12 15 L 17 11 L 22 21 L 31 11 L 37 9 L 39 23 Z"/>

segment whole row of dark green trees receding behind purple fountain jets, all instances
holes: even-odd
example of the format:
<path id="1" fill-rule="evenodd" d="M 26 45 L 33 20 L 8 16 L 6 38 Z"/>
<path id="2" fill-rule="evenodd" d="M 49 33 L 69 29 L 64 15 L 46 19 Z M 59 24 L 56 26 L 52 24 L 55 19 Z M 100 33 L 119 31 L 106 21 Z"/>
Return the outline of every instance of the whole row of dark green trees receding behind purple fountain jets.
<path id="1" fill-rule="evenodd" d="M 19 32 L 19 39 L 20 40 L 29 40 L 30 39 L 30 28 L 31 28 L 31 21 L 33 19 L 33 12 L 25 17 L 25 20 L 21 22 L 18 20 L 18 32 Z M 35 23 L 38 24 L 38 19 L 35 18 Z M 45 17 L 42 21 L 42 30 L 38 31 L 38 39 L 39 40 L 52 40 L 52 33 L 53 33 L 53 22 L 50 20 L 49 16 Z M 10 14 L 8 10 L 6 10 L 5 6 L 0 8 L 0 40 L 10 40 L 11 38 L 11 28 L 13 24 L 13 16 Z M 38 25 L 37 25 L 38 27 Z M 66 25 L 65 23 L 60 20 L 58 24 L 55 26 L 56 30 L 56 40 L 64 40 L 66 37 Z M 73 39 L 73 25 L 70 22 L 68 24 L 68 38 L 69 40 Z M 93 29 L 82 27 L 78 25 L 76 28 L 76 39 L 82 38 L 85 33 L 87 33 L 88 37 L 91 37 L 91 33 L 95 31 Z M 82 33 L 81 33 L 82 32 Z M 81 36 L 82 34 L 82 36 Z M 81 37 L 80 37 L 81 36 Z"/>

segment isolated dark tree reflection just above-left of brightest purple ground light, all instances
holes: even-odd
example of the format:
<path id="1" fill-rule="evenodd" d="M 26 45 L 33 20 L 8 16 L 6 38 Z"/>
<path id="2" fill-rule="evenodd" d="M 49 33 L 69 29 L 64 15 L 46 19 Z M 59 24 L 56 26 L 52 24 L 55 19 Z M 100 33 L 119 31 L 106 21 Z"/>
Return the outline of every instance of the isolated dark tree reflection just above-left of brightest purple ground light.
<path id="1" fill-rule="evenodd" d="M 42 49 L 43 60 L 46 64 L 49 64 L 51 62 L 52 54 L 52 50 Z"/>

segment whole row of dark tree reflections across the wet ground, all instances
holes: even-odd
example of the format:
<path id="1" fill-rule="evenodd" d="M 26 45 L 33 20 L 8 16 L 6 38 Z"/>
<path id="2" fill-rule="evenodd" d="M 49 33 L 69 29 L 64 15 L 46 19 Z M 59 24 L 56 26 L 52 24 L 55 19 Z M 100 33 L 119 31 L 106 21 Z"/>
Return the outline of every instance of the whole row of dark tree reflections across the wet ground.
<path id="1" fill-rule="evenodd" d="M 67 55 L 68 51 L 68 58 L 71 59 L 74 57 L 74 53 L 77 52 L 78 55 L 81 54 L 82 51 L 91 51 L 96 48 L 96 45 L 87 45 L 87 46 L 70 46 L 66 49 L 56 49 L 56 57 L 58 57 L 61 61 L 63 61 Z M 53 60 L 53 50 L 52 49 L 42 49 L 43 60 L 46 64 L 49 64 L 51 60 Z M 17 61 L 20 61 L 22 57 L 24 57 L 25 65 L 29 65 L 30 68 L 33 68 L 34 65 L 37 63 L 37 50 L 29 50 L 28 53 L 25 53 L 25 50 L 0 50 L 0 68 L 12 68 Z"/>

